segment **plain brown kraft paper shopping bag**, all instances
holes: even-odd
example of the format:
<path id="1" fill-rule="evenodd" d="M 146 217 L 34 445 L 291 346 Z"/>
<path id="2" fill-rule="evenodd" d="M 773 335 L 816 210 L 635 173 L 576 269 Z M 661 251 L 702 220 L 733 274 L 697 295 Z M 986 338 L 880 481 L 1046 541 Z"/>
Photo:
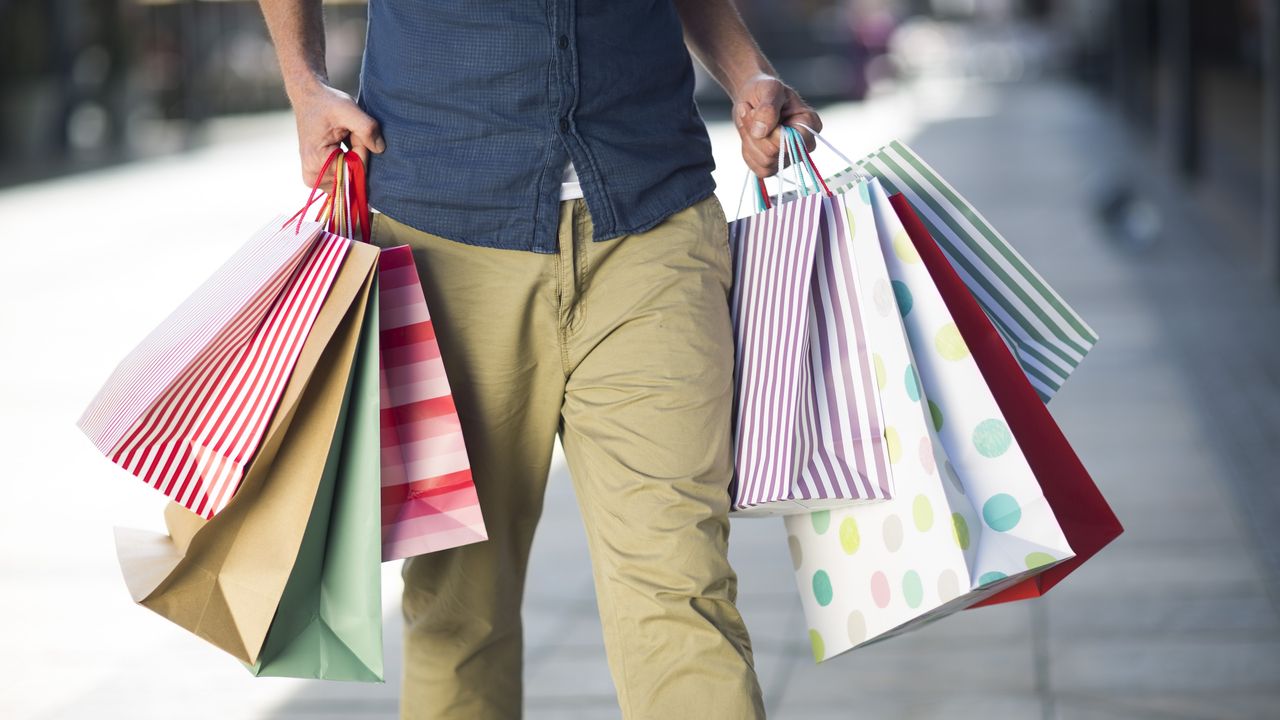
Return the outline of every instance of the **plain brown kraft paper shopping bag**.
<path id="1" fill-rule="evenodd" d="M 170 505 L 168 536 L 116 529 L 134 601 L 242 662 L 259 660 L 320 489 L 337 471 L 330 448 L 349 405 L 366 310 L 375 302 L 376 260 L 369 245 L 349 247 L 259 452 L 223 511 L 205 521 Z M 376 523 L 372 507 L 369 512 L 367 521 Z"/>

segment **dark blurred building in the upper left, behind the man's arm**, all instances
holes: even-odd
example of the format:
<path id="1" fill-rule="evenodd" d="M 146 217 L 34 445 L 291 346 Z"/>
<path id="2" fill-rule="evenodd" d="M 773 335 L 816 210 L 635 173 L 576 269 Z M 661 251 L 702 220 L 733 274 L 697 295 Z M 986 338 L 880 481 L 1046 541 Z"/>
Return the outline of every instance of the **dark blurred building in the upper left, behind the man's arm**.
<path id="1" fill-rule="evenodd" d="M 365 4 L 326 1 L 355 90 Z M 0 184 L 187 147 L 207 118 L 285 106 L 253 0 L 0 0 Z"/>

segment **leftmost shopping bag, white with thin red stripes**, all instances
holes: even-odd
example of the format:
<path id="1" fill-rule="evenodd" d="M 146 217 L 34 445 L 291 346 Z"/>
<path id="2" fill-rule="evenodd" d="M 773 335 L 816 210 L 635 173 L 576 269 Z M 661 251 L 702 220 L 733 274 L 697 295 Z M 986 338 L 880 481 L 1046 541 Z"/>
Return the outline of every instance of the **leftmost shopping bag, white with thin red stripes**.
<path id="1" fill-rule="evenodd" d="M 108 459 L 204 518 L 239 487 L 351 247 L 282 223 L 134 348 L 79 420 Z"/>

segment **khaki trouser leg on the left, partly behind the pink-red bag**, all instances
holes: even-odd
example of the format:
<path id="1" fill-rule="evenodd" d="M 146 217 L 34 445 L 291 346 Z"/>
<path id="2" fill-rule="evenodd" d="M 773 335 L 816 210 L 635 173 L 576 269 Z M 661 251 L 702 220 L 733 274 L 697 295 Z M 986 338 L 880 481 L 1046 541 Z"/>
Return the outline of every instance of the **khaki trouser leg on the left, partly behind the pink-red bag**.
<path id="1" fill-rule="evenodd" d="M 404 561 L 401 715 L 520 717 L 520 605 L 564 388 L 556 258 L 451 242 L 385 215 L 374 242 L 413 249 L 489 533 Z"/>

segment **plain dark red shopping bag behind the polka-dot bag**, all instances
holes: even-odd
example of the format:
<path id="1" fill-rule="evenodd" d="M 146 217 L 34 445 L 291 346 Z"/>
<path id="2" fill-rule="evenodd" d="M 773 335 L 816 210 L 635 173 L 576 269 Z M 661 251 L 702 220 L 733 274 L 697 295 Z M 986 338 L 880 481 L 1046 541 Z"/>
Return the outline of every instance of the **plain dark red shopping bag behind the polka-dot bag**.
<path id="1" fill-rule="evenodd" d="M 1000 405 L 1000 411 L 1018 438 L 1019 446 L 1036 473 L 1044 498 L 1057 518 L 1075 557 L 1066 560 L 1002 591 L 979 605 L 993 605 L 1038 597 L 1075 571 L 1085 560 L 1097 555 L 1124 528 L 1093 483 L 1088 470 L 1071 450 L 1048 409 L 1034 388 L 1018 372 L 1018 363 L 1005 346 L 991 320 L 983 313 L 964 282 L 947 263 L 946 256 L 929 236 L 911 205 L 901 195 L 890 197 L 893 210 L 906 228 L 922 263 L 929 270 L 947 310 L 956 322 L 960 337 L 973 352 L 974 363 Z"/>

